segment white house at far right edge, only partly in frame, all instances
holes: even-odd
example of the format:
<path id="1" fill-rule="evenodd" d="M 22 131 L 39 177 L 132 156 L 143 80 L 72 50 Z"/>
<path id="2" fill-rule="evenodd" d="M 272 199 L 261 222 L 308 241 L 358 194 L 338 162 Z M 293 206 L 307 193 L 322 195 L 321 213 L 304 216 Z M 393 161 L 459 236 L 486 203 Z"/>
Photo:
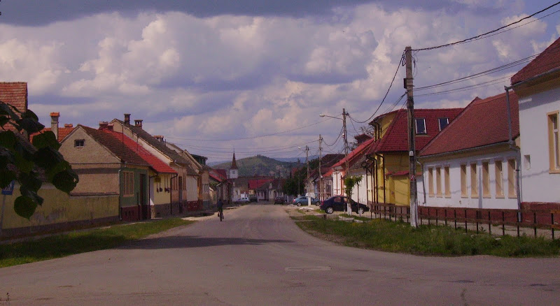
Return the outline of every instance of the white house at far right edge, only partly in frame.
<path id="1" fill-rule="evenodd" d="M 519 97 L 521 200 L 560 203 L 560 38 L 511 78 Z"/>

